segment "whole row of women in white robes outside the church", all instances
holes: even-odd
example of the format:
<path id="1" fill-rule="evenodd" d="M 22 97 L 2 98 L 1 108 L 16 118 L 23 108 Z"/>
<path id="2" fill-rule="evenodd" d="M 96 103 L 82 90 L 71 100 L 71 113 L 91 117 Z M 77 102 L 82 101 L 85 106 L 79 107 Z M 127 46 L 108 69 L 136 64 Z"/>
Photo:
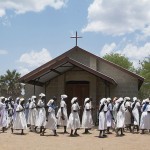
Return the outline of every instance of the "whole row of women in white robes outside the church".
<path id="1" fill-rule="evenodd" d="M 53 131 L 57 136 L 58 126 L 64 127 L 64 133 L 70 136 L 79 136 L 78 129 L 83 128 L 85 134 L 89 134 L 89 130 L 93 128 L 92 112 L 96 108 L 92 106 L 92 99 L 85 98 L 82 121 L 80 122 L 78 98 L 73 97 L 71 100 L 71 113 L 68 117 L 66 99 L 67 95 L 61 95 L 60 106 L 56 106 L 56 97 L 53 97 L 45 104 L 45 94 L 41 93 L 39 99 L 32 96 L 25 103 L 24 98 L 16 98 L 15 102 L 11 97 L 0 97 L 0 127 L 5 132 L 11 128 L 14 130 L 24 130 L 29 127 L 31 132 L 37 132 L 43 136 L 46 129 Z M 67 99 L 69 100 L 69 99 Z M 58 110 L 56 112 L 56 110 Z M 124 131 L 131 133 L 144 134 L 145 131 L 150 132 L 150 99 L 138 100 L 129 97 L 120 98 L 102 98 L 98 107 L 98 130 L 99 138 L 107 137 L 111 134 L 110 129 L 116 132 L 116 136 L 123 136 Z"/>

